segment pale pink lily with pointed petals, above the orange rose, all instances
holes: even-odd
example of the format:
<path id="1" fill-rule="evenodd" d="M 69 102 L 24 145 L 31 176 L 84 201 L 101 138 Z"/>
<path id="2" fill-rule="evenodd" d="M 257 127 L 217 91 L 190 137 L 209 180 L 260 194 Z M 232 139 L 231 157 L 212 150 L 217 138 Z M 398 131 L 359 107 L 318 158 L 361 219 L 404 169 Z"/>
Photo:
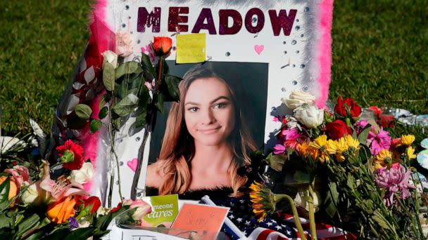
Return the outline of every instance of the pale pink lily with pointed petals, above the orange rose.
<path id="1" fill-rule="evenodd" d="M 67 196 L 87 194 L 83 186 L 77 182 L 67 184 L 65 181 L 56 182 L 51 180 L 49 164 L 46 161 L 43 161 L 43 164 L 42 180 L 36 182 L 37 189 L 40 190 L 38 192 L 41 192 L 41 194 L 39 194 L 41 201 L 44 201 L 46 204 L 52 204 Z"/>

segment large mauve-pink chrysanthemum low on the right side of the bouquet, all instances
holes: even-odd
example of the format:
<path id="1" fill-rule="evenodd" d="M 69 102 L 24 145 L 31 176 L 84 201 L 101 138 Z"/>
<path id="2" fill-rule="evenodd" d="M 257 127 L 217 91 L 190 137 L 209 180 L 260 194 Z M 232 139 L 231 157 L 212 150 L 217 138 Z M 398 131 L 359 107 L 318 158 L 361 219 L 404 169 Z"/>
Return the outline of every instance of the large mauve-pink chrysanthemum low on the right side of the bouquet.
<path id="1" fill-rule="evenodd" d="M 386 206 L 393 206 L 396 204 L 394 199 L 395 194 L 400 199 L 407 199 L 411 196 L 409 189 L 414 189 L 415 186 L 409 183 L 410 169 L 405 171 L 401 165 L 396 165 L 394 168 L 382 169 L 376 172 L 374 182 L 382 189 L 385 189 L 384 203 Z"/>

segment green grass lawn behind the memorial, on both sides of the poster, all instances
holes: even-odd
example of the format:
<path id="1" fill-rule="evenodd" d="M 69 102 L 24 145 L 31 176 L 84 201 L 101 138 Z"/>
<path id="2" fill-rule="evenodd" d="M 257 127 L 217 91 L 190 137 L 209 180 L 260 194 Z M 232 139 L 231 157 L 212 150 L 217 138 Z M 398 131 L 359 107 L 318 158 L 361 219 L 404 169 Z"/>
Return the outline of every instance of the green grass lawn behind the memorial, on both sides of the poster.
<path id="1" fill-rule="evenodd" d="M 6 135 L 49 129 L 89 39 L 89 1 L 0 1 L 0 104 Z M 428 1 L 336 0 L 330 95 L 428 113 Z M 420 128 L 398 127 L 394 133 Z"/>

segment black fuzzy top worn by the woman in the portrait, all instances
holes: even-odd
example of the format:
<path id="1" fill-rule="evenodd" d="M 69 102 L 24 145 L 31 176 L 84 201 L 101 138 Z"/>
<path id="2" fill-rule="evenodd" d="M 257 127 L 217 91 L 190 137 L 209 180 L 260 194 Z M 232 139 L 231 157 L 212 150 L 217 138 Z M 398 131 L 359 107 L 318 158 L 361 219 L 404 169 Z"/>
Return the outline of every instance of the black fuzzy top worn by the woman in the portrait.
<path id="1" fill-rule="evenodd" d="M 214 189 L 198 189 L 194 191 L 184 192 L 184 194 L 178 194 L 179 199 L 191 199 L 201 200 L 205 195 L 210 196 L 210 199 L 226 199 L 229 194 L 232 194 L 233 190 L 230 187 L 219 187 Z M 158 195 L 158 189 L 155 187 L 146 187 L 146 196 Z"/>

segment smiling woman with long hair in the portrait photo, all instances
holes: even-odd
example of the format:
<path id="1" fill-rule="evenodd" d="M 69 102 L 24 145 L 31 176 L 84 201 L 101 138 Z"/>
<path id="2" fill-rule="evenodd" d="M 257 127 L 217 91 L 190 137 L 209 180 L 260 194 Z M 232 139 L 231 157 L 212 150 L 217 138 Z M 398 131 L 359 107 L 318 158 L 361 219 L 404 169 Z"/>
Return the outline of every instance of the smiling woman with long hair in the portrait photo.
<path id="1" fill-rule="evenodd" d="M 182 194 L 198 198 L 220 191 L 239 195 L 246 179 L 237 175 L 250 164 L 256 149 L 237 91 L 209 64 L 184 74 L 180 102 L 168 114 L 160 156 L 149 165 L 146 185 L 158 194 Z"/>

